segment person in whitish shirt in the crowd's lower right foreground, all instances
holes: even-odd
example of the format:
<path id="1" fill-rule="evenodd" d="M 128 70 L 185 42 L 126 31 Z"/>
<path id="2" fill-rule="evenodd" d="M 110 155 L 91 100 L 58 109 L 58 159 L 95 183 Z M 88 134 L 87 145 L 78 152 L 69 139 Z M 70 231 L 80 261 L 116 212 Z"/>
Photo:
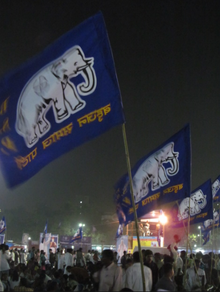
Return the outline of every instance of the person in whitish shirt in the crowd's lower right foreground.
<path id="1" fill-rule="evenodd" d="M 186 270 L 187 291 L 201 291 L 206 284 L 205 271 L 199 268 L 200 261 L 195 259 L 195 266 Z"/>

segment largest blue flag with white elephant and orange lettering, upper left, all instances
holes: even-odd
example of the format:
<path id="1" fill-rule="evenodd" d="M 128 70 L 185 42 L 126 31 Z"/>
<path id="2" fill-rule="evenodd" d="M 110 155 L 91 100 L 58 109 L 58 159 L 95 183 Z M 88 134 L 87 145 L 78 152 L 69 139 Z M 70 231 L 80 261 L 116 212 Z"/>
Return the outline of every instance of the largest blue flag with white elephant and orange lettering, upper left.
<path id="1" fill-rule="evenodd" d="M 0 159 L 7 185 L 124 122 L 101 13 L 0 80 Z"/>

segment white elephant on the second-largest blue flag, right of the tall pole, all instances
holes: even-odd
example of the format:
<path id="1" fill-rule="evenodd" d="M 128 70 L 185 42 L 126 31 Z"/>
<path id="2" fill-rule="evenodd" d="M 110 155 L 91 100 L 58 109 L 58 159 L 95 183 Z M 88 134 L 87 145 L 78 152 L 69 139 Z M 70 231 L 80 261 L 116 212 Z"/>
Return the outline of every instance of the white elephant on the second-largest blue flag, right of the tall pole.
<path id="1" fill-rule="evenodd" d="M 176 175 L 179 171 L 178 156 L 179 152 L 174 152 L 174 143 L 171 142 L 141 164 L 133 177 L 135 202 L 147 196 L 150 182 L 152 191 L 170 182 L 168 175 Z M 170 163 L 171 167 L 165 169 L 165 163 Z"/>

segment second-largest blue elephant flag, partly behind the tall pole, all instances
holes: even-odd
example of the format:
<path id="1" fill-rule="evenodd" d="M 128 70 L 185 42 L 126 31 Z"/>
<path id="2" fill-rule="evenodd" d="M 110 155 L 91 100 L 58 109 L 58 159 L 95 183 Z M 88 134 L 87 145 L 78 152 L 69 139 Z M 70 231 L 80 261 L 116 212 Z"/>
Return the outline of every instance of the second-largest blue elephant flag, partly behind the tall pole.
<path id="1" fill-rule="evenodd" d="M 190 128 L 182 130 L 143 157 L 132 169 L 135 208 L 142 217 L 161 206 L 190 194 Z M 128 174 L 115 185 L 115 203 L 119 223 L 134 220 Z"/>

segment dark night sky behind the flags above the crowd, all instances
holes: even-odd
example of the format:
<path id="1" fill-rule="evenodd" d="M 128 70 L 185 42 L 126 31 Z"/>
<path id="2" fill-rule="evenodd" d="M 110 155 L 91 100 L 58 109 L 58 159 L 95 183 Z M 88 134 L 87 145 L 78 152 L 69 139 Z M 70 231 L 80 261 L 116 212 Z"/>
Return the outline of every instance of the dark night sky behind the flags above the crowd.
<path id="1" fill-rule="evenodd" d="M 131 165 L 190 123 L 192 190 L 213 181 L 220 175 L 219 1 L 4 1 L 0 76 L 98 11 L 114 56 Z M 3 214 L 41 202 L 56 210 L 61 202 L 89 197 L 92 206 L 98 202 L 100 220 L 114 214 L 113 186 L 126 172 L 117 126 L 14 189 L 0 172 L 0 208 Z"/>

